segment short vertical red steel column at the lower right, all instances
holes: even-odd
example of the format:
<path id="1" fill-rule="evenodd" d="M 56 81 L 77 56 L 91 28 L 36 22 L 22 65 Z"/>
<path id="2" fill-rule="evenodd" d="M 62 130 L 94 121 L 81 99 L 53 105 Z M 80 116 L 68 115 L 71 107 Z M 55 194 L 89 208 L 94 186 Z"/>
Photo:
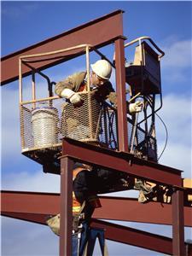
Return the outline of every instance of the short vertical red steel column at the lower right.
<path id="1" fill-rule="evenodd" d="M 185 255 L 182 190 L 172 194 L 172 255 Z"/>

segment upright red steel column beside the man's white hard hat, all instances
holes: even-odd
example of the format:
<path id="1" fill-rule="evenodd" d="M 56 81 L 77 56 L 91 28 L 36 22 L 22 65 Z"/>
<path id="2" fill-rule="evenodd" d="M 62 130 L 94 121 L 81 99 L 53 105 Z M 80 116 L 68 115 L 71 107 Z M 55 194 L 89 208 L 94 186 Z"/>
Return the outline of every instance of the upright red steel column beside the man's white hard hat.
<path id="1" fill-rule="evenodd" d="M 119 151 L 128 152 L 128 129 L 125 96 L 125 48 L 124 38 L 115 41 L 116 90 L 118 103 Z"/>

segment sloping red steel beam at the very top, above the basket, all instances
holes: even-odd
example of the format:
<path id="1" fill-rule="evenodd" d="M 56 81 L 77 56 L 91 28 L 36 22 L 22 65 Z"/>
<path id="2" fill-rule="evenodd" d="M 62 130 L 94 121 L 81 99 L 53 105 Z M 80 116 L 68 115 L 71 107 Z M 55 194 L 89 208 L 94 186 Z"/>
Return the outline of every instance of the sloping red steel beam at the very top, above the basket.
<path id="1" fill-rule="evenodd" d="M 1 84 L 7 84 L 19 78 L 19 57 L 21 55 L 45 53 L 52 51 L 53 49 L 66 49 L 78 44 L 92 44 L 96 48 L 99 48 L 113 43 L 115 38 L 123 36 L 122 13 L 122 10 L 114 11 L 111 14 L 104 15 L 101 18 L 92 20 L 67 32 L 63 32 L 53 38 L 48 38 L 38 44 L 33 44 L 32 46 L 25 49 L 20 49 L 13 54 L 3 56 L 1 59 Z M 83 54 L 82 52 L 78 52 L 78 50 L 75 52 L 79 55 Z M 36 64 L 33 63 L 33 67 L 43 70 L 44 68 L 52 67 L 55 64 L 67 61 L 71 58 L 72 56 L 68 55 L 65 60 L 57 59 L 55 61 L 52 59 L 40 61 Z M 28 67 L 23 67 L 22 74 L 24 76 L 30 73 L 31 72 Z"/>

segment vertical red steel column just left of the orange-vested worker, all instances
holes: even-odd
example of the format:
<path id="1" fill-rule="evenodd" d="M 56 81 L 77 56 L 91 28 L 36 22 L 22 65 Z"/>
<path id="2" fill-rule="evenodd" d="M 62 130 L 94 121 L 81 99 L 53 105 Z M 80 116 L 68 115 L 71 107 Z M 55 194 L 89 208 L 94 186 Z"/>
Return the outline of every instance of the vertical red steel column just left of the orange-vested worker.
<path id="1" fill-rule="evenodd" d="M 60 256 L 72 255 L 73 160 L 61 158 Z"/>

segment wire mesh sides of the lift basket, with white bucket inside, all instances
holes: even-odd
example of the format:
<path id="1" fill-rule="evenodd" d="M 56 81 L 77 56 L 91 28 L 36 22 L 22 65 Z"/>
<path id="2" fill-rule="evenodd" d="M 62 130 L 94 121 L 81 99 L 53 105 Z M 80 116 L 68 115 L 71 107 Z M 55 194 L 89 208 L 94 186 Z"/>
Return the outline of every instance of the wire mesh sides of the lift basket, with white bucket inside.
<path id="1" fill-rule="evenodd" d="M 23 154 L 43 165 L 47 160 L 55 162 L 61 152 L 62 137 L 118 150 L 117 110 L 106 102 L 97 102 L 92 92 L 80 95 L 84 103 L 79 108 L 62 98 L 20 105 Z M 127 125 L 128 143 L 131 145 L 131 119 L 128 119 Z M 154 137 L 150 137 L 149 141 L 149 149 L 156 152 Z M 146 143 L 145 131 L 137 127 L 133 145 L 136 154 L 148 154 L 143 152 L 143 143 Z"/>

